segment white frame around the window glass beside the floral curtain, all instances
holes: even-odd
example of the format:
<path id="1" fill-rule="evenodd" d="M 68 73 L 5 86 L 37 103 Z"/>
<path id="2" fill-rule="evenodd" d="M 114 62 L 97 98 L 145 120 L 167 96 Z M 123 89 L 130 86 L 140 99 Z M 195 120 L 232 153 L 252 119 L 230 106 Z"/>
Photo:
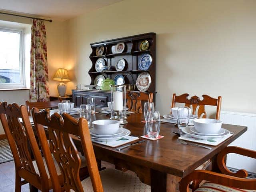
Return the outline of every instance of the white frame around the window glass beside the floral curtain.
<path id="1" fill-rule="evenodd" d="M 25 70 L 25 46 L 24 46 L 24 30 L 23 29 L 15 29 L 15 28 L 6 28 L 0 26 L 0 31 L 3 32 L 14 32 L 18 33 L 19 38 L 19 49 L 20 49 L 20 83 L 0 83 L 0 90 L 8 90 L 8 89 L 21 89 L 26 88 L 26 70 Z"/>

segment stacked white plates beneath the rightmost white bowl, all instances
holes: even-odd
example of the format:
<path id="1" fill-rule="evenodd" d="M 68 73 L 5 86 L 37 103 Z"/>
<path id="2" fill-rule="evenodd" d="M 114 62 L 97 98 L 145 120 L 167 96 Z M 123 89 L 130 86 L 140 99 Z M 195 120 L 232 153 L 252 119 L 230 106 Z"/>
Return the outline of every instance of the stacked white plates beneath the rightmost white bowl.
<path id="1" fill-rule="evenodd" d="M 216 134 L 199 133 L 196 131 L 194 126 L 184 127 L 184 128 L 182 128 L 182 131 L 189 136 L 192 136 L 192 137 L 198 138 L 198 139 L 203 139 L 203 140 L 212 139 L 212 138 L 220 138 L 220 137 L 224 137 L 224 136 L 227 136 L 228 134 L 230 134 L 229 130 L 226 130 L 224 128 L 220 128 L 220 130 Z"/>

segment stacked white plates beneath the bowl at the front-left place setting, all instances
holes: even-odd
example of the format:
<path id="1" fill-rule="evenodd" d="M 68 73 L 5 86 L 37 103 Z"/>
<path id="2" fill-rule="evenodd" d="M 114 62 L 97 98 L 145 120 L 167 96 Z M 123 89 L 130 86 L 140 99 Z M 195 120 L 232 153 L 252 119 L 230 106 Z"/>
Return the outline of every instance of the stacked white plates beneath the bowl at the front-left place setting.
<path id="1" fill-rule="evenodd" d="M 131 134 L 130 130 L 125 129 L 125 128 L 119 128 L 119 130 L 116 132 L 116 134 L 112 134 L 112 135 L 98 135 L 94 132 L 93 129 L 90 129 L 91 138 L 93 140 L 103 141 L 103 142 L 116 141 L 116 140 L 122 139 L 130 134 Z"/>

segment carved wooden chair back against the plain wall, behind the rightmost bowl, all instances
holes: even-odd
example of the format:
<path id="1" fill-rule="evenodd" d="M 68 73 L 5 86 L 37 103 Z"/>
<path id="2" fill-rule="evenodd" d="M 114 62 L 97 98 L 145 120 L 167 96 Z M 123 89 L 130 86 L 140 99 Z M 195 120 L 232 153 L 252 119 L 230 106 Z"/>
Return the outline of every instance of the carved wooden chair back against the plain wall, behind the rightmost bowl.
<path id="1" fill-rule="evenodd" d="M 188 99 L 189 94 L 185 93 L 179 96 L 176 96 L 174 93 L 172 95 L 172 106 L 171 108 L 175 107 L 176 103 L 184 103 L 185 106 L 192 108 L 192 114 L 196 114 L 199 118 L 207 118 L 205 106 L 216 106 L 216 116 L 215 119 L 220 119 L 220 108 L 221 108 L 221 96 L 218 96 L 218 98 L 212 98 L 208 95 L 202 95 L 203 100 L 200 100 L 198 96 L 192 96 L 190 99 Z"/>

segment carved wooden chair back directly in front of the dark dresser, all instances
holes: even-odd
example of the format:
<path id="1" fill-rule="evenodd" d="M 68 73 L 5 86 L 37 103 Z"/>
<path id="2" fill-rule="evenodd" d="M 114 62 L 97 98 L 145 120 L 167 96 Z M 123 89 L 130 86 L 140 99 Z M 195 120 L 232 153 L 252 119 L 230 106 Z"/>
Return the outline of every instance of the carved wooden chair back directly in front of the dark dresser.
<path id="1" fill-rule="evenodd" d="M 144 103 L 153 102 L 153 93 L 144 92 L 127 92 L 126 93 L 126 106 L 129 111 L 143 113 Z"/>

